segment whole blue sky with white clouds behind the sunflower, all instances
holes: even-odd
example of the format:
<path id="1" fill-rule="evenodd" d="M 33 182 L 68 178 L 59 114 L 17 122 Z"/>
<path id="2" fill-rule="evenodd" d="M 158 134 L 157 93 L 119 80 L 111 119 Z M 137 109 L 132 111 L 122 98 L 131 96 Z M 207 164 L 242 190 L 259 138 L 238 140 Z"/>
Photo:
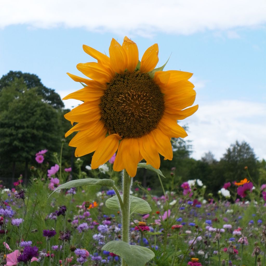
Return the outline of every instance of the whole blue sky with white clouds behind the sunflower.
<path id="1" fill-rule="evenodd" d="M 33 73 L 63 98 L 81 89 L 66 72 L 94 61 L 89 45 L 108 54 L 110 41 L 128 36 L 140 59 L 154 43 L 164 70 L 194 73 L 198 111 L 189 127 L 192 157 L 219 160 L 246 141 L 266 159 L 266 2 L 263 0 L 4 1 L 0 10 L 0 77 Z M 64 101 L 71 109 L 81 102 Z"/>

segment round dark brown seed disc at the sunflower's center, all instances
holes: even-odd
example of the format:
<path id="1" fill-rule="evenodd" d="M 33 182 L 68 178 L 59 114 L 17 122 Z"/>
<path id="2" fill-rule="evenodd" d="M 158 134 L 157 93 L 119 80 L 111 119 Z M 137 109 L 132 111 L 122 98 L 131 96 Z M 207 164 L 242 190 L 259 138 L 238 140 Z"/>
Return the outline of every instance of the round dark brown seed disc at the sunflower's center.
<path id="1" fill-rule="evenodd" d="M 158 85 L 139 71 L 116 74 L 101 98 L 101 120 L 111 134 L 139 138 L 156 128 L 164 99 Z"/>

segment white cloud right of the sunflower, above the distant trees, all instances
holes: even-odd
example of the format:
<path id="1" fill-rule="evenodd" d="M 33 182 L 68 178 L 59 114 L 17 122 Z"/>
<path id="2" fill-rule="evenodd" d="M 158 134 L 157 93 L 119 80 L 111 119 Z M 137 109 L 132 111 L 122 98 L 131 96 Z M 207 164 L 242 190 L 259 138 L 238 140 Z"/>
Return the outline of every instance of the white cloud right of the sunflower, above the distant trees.
<path id="1" fill-rule="evenodd" d="M 266 158 L 266 106 L 247 101 L 218 101 L 199 105 L 198 111 L 179 121 L 188 124 L 195 159 L 211 151 L 220 159 L 230 144 L 246 141 L 259 159 Z"/>

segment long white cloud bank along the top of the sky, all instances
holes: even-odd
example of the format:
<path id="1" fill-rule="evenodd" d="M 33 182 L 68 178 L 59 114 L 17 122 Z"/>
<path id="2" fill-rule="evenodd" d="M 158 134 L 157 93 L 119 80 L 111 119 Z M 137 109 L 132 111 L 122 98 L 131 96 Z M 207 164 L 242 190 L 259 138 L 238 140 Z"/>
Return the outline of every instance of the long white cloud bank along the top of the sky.
<path id="1" fill-rule="evenodd" d="M 265 22 L 264 0 L 14 0 L 3 1 L 0 27 L 85 27 L 90 31 L 151 36 L 156 32 L 192 34 L 230 30 Z M 229 32 L 229 35 L 232 32 Z M 235 34 L 233 34 L 236 36 Z"/>

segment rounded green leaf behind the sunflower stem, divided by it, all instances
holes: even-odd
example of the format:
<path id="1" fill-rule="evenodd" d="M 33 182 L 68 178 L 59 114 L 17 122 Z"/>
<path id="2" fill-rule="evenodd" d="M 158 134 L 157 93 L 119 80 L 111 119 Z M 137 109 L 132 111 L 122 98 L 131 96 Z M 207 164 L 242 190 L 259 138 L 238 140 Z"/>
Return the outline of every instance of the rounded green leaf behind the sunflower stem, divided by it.
<path id="1" fill-rule="evenodd" d="M 121 195 L 121 198 L 123 200 L 123 195 Z M 146 214 L 151 212 L 151 207 L 149 206 L 149 203 L 147 201 L 134 196 L 129 196 L 129 200 L 130 200 L 130 215 L 132 213 Z M 105 202 L 105 205 L 108 209 L 120 210 L 120 205 L 117 196 L 109 198 Z"/>

